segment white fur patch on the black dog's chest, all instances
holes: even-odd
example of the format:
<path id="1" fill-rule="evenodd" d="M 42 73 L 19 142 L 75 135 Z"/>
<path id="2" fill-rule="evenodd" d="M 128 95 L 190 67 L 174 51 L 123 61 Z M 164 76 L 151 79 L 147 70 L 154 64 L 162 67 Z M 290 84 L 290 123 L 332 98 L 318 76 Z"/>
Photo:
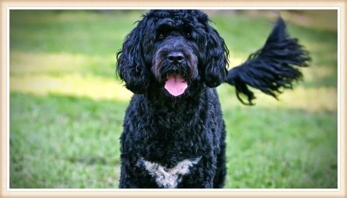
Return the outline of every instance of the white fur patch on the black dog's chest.
<path id="1" fill-rule="evenodd" d="M 140 158 L 137 165 L 143 165 L 148 173 L 155 178 L 157 184 L 162 188 L 176 188 L 182 181 L 182 176 L 189 173 L 189 168 L 197 164 L 201 157 L 195 159 L 184 159 L 173 168 L 166 168 L 155 162 Z"/>

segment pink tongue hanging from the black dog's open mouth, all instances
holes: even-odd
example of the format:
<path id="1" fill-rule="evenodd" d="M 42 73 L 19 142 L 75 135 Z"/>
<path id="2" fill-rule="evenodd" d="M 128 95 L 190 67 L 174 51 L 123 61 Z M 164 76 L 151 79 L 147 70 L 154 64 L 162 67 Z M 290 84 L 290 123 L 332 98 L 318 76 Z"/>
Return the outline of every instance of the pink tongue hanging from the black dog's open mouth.
<path id="1" fill-rule="evenodd" d="M 188 85 L 180 75 L 170 75 L 164 87 L 171 95 L 179 96 L 184 93 Z"/>

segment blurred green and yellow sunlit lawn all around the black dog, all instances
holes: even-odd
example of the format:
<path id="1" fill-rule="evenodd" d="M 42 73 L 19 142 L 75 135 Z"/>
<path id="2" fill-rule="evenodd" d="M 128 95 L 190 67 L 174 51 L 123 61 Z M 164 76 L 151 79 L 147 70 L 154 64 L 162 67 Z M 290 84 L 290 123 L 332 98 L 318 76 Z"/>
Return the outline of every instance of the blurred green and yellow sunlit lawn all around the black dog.
<path id="1" fill-rule="evenodd" d="M 337 188 L 337 10 L 205 10 L 231 66 L 279 14 L 312 56 L 279 101 L 244 106 L 218 87 L 227 125 L 225 188 Z M 116 51 L 146 10 L 10 10 L 10 188 L 117 188 L 132 93 Z"/>

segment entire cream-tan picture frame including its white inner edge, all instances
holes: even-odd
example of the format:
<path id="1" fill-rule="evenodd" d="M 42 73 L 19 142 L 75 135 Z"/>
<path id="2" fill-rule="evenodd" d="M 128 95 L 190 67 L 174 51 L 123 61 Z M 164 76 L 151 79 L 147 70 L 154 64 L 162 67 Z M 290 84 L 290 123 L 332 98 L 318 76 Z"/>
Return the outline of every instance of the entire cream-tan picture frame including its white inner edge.
<path id="1" fill-rule="evenodd" d="M 148 198 L 163 198 L 163 197 L 189 197 L 189 198 L 226 198 L 226 197 L 316 197 L 316 198 L 346 198 L 346 5 L 345 0 L 1 0 L 0 15 L 1 15 L 1 72 L 0 72 L 0 197 L 148 197 Z M 334 7 L 339 10 L 338 21 L 338 65 L 339 65 L 339 82 L 338 82 L 338 188 L 337 189 L 183 189 L 183 190 L 126 190 L 126 189 L 9 189 L 9 147 L 8 147 L 8 125 L 9 125 L 9 8 L 10 7 L 188 7 L 188 8 L 204 8 L 204 7 L 242 7 L 244 9 L 254 7 L 264 7 L 272 9 L 281 7 L 288 9 L 289 7 Z M 97 9 L 97 8 L 96 8 Z"/>

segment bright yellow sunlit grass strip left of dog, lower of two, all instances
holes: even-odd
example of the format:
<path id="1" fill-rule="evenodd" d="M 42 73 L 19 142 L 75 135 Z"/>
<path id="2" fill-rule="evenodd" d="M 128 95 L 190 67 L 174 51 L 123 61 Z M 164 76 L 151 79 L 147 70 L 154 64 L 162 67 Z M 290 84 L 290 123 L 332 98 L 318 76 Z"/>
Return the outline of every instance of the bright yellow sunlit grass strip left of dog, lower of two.
<path id="1" fill-rule="evenodd" d="M 34 95 L 60 94 L 90 99 L 128 101 L 132 93 L 119 81 L 98 76 L 82 76 L 79 73 L 59 77 L 49 75 L 26 75 L 10 77 L 10 91 Z"/>

